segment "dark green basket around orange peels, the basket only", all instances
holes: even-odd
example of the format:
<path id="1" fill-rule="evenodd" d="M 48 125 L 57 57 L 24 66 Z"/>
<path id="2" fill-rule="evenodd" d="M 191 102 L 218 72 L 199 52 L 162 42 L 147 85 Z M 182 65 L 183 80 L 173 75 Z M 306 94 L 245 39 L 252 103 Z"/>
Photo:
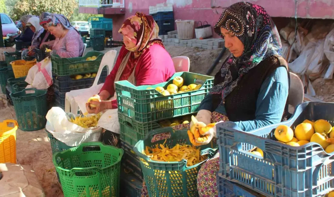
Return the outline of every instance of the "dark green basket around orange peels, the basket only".
<path id="1" fill-rule="evenodd" d="M 134 151 L 141 158 L 141 166 L 144 174 L 145 183 L 150 197 L 198 197 L 197 191 L 197 174 L 202 161 L 193 166 L 187 166 L 187 160 L 183 159 L 180 162 L 159 162 L 151 161 L 150 158 L 142 152 L 146 146 L 155 148 L 156 144 L 163 144 L 165 139 L 152 142 L 152 138 L 157 134 L 169 133 L 170 138 L 167 138 L 166 145 L 174 147 L 177 143 L 191 145 L 187 130 L 173 130 L 171 127 L 157 129 L 146 135 L 143 140 L 140 140 L 134 147 Z M 168 137 L 168 136 L 166 136 Z M 211 143 L 200 146 L 201 155 L 212 157 L 217 151 L 217 148 L 211 147 Z M 145 161 L 145 163 L 143 163 Z"/>

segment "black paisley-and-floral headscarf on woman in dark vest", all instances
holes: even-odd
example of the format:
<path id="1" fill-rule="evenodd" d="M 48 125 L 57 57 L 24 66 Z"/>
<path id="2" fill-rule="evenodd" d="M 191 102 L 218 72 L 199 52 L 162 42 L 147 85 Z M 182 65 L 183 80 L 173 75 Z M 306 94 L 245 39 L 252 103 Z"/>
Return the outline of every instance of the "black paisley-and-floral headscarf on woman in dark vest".
<path id="1" fill-rule="evenodd" d="M 221 94 L 222 100 L 233 91 L 242 76 L 272 55 L 282 55 L 282 43 L 276 26 L 261 6 L 239 2 L 226 8 L 214 26 L 221 36 L 220 27 L 233 33 L 244 45 L 243 53 L 236 58 L 232 54 L 221 67 L 221 82 L 213 86 L 211 94 Z M 230 68 L 238 69 L 233 80 Z"/>

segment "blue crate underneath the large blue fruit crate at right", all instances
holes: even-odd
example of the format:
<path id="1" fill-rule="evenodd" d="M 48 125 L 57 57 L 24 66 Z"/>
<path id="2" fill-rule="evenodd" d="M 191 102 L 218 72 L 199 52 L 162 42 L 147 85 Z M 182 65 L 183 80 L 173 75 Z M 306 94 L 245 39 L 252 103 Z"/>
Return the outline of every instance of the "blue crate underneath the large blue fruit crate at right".
<path id="1" fill-rule="evenodd" d="M 217 187 L 219 197 L 262 197 L 258 192 L 252 190 L 249 191 L 250 189 L 237 183 L 230 182 L 220 176 L 217 176 Z"/>

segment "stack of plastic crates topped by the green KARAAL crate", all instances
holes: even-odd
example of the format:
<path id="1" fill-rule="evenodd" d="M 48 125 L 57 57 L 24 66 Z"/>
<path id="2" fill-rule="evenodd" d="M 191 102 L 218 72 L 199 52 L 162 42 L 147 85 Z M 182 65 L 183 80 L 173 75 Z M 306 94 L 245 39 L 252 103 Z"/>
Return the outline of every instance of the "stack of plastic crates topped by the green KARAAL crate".
<path id="1" fill-rule="evenodd" d="M 155 90 L 157 87 L 167 89 L 167 86 L 173 83 L 173 79 L 177 76 L 183 78 L 184 85 L 197 83 L 202 86 L 198 90 L 169 96 L 164 96 Z M 208 94 L 212 85 L 212 77 L 190 72 L 175 73 L 169 81 L 156 85 L 136 87 L 128 81 L 115 82 L 121 135 L 120 145 L 124 149 L 122 166 L 137 177 L 136 181 L 143 180 L 140 159 L 133 151 L 136 143 L 152 130 L 171 124 L 164 125 L 162 122 L 169 120 L 173 122 L 173 119 L 179 120 L 184 116 L 189 117 L 189 115 L 196 113 L 199 104 Z M 132 193 L 137 189 L 133 188 Z M 129 195 L 124 194 L 124 196 Z"/>

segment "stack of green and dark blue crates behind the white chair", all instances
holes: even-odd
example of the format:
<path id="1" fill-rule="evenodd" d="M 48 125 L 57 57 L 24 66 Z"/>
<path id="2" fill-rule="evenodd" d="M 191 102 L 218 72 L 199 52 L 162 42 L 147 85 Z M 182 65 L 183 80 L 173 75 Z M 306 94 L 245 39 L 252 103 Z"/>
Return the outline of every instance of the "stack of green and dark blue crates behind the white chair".
<path id="1" fill-rule="evenodd" d="M 84 57 L 75 58 L 51 56 L 55 106 L 65 109 L 66 92 L 90 88 L 93 85 L 103 56 L 104 53 L 98 51 L 91 51 Z M 107 68 L 104 68 L 99 84 L 104 83 L 106 77 Z"/>

